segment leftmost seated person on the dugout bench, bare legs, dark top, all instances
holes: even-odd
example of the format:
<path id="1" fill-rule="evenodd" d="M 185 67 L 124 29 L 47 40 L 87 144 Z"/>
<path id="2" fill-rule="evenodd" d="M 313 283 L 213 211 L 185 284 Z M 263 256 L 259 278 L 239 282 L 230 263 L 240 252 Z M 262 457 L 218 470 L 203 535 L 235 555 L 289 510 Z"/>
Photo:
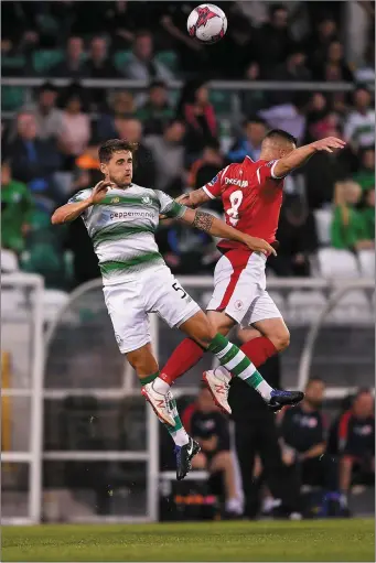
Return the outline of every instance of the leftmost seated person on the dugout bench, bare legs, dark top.
<path id="1" fill-rule="evenodd" d="M 237 490 L 234 457 L 229 447 L 228 421 L 214 404 L 212 396 L 202 387 L 194 409 L 183 412 L 184 426 L 201 445 L 201 452 L 193 458 L 194 469 L 207 469 L 212 478 L 224 477 L 226 512 L 241 515 L 241 500 Z"/>

